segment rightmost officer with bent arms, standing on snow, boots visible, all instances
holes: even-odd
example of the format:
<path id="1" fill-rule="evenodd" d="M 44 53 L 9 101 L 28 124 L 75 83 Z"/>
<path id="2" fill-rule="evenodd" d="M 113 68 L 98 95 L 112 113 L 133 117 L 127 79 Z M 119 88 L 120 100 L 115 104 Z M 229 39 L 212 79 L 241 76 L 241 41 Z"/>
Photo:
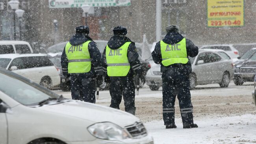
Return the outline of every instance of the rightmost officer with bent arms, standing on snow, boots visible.
<path id="1" fill-rule="evenodd" d="M 167 34 L 156 43 L 152 52 L 155 63 L 161 64 L 163 81 L 163 121 L 166 128 L 176 128 L 174 103 L 179 100 L 183 128 L 197 128 L 193 122 L 193 106 L 189 91 L 189 74 L 192 72 L 188 56 L 195 57 L 198 47 L 179 34 L 176 25 L 166 27 Z"/>

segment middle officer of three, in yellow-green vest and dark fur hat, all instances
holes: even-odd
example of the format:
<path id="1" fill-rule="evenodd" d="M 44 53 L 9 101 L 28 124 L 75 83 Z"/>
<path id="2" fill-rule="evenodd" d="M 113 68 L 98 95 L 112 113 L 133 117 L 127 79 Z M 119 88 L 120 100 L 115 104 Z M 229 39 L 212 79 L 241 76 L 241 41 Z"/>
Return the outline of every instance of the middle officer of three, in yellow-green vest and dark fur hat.
<path id="1" fill-rule="evenodd" d="M 114 36 L 110 38 L 102 54 L 105 81 L 110 82 L 110 107 L 119 109 L 123 96 L 125 111 L 135 115 L 134 72 L 145 83 L 143 70 L 138 59 L 139 54 L 135 43 L 125 36 L 127 34 L 125 27 L 115 27 L 113 32 Z"/>

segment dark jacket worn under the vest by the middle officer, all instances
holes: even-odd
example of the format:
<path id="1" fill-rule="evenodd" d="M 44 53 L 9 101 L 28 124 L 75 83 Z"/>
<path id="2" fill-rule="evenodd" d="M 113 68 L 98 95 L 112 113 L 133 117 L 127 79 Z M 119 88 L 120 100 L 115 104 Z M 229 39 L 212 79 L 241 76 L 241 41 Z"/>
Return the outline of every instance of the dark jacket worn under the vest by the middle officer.
<path id="1" fill-rule="evenodd" d="M 110 40 L 108 41 L 108 47 L 110 49 L 118 49 L 120 48 L 122 45 L 124 45 L 124 43 L 126 42 L 132 42 L 129 38 L 127 38 L 126 36 L 123 35 L 114 35 L 110 38 Z M 127 76 L 133 76 L 134 75 L 134 71 L 137 74 L 141 74 L 142 75 L 142 68 L 140 65 L 140 61 L 139 61 L 139 54 L 136 50 L 135 47 L 135 43 L 132 42 L 130 43 L 129 47 L 128 47 L 128 51 L 127 51 L 127 57 L 128 57 L 128 61 L 130 63 L 130 71 L 128 72 Z M 107 76 L 107 61 L 106 61 L 106 47 L 104 49 L 104 52 L 102 54 L 102 59 L 104 61 L 103 63 L 103 71 L 104 71 L 104 75 Z M 134 70 L 135 69 L 135 70 Z"/>

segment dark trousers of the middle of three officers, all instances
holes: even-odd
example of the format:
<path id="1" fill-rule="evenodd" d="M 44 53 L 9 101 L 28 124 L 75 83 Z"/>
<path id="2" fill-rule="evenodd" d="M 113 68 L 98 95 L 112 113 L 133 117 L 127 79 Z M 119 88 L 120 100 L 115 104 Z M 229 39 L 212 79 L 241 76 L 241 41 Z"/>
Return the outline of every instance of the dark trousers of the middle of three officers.
<path id="1" fill-rule="evenodd" d="M 125 111 L 135 115 L 135 86 L 133 77 L 110 77 L 111 108 L 119 109 L 124 98 Z"/>

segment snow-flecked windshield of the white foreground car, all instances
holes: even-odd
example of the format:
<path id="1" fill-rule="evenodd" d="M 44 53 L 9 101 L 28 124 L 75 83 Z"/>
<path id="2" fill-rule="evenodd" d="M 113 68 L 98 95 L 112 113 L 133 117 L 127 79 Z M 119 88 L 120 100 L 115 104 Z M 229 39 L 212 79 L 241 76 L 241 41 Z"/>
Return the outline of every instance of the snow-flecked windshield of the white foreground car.
<path id="1" fill-rule="evenodd" d="M 5 74 L 0 71 L 0 81 L 4 81 L 4 83 L 0 83 L 1 92 L 26 106 L 38 105 L 46 99 L 59 97 L 50 90 L 41 88 L 41 86 L 11 72 Z"/>

